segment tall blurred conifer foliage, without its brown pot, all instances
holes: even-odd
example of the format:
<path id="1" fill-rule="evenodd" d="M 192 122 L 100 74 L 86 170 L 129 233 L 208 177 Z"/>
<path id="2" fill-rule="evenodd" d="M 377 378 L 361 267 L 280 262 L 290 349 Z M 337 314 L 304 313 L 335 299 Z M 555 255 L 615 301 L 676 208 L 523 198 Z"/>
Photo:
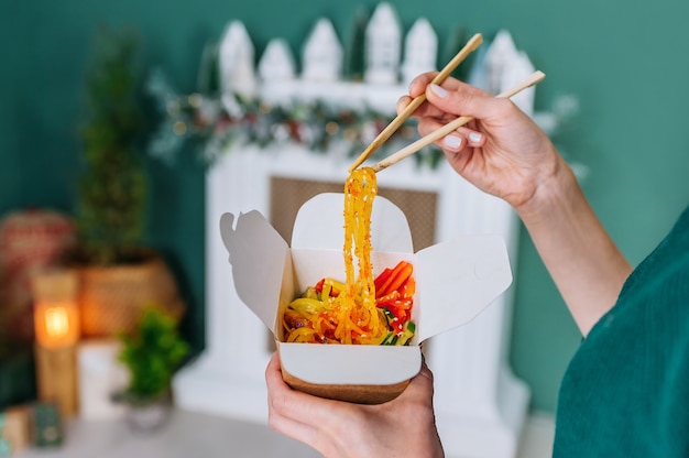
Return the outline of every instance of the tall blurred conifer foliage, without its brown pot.
<path id="1" fill-rule="evenodd" d="M 81 126 L 86 172 L 78 223 L 94 264 L 138 261 L 146 199 L 141 142 L 145 134 L 139 44 L 131 32 L 101 30 L 86 74 Z"/>

